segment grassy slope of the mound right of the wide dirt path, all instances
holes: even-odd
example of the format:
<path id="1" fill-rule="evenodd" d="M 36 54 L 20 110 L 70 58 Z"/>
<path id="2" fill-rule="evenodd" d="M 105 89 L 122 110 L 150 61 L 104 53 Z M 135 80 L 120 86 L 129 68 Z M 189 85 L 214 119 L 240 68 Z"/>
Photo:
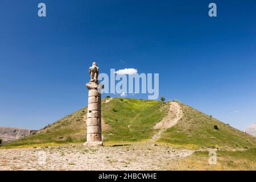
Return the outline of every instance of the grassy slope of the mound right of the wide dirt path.
<path id="1" fill-rule="evenodd" d="M 255 148 L 256 138 L 181 104 L 183 117 L 167 129 L 160 141 L 188 147 Z M 214 128 L 214 125 L 217 127 Z"/>

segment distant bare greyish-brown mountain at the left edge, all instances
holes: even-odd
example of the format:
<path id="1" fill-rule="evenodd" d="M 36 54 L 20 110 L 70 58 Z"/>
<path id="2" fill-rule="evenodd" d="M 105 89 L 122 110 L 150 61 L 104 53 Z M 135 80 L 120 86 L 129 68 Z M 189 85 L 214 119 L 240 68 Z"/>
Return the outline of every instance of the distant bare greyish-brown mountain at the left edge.
<path id="1" fill-rule="evenodd" d="M 20 129 L 17 127 L 0 127 L 0 139 L 3 143 L 13 142 L 16 139 L 35 134 L 36 130 Z"/>

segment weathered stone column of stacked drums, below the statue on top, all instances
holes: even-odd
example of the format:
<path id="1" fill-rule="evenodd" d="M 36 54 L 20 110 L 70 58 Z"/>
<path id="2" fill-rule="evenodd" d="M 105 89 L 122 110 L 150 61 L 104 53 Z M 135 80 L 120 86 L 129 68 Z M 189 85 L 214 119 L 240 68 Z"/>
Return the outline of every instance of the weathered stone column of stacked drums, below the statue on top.
<path id="1" fill-rule="evenodd" d="M 102 146 L 101 137 L 101 93 L 98 92 L 98 84 L 89 82 L 86 87 L 88 94 L 87 112 L 87 138 L 84 146 Z"/>

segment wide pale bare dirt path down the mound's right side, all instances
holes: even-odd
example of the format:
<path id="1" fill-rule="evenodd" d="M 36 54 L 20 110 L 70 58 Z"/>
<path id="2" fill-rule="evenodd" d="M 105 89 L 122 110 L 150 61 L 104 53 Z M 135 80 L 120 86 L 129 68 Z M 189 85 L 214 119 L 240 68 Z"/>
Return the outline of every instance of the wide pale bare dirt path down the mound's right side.
<path id="1" fill-rule="evenodd" d="M 159 131 L 154 135 L 154 137 L 152 137 L 151 141 L 159 139 L 163 134 L 164 130 L 174 126 L 182 116 L 183 112 L 180 105 L 177 102 L 171 102 L 170 110 L 166 117 L 164 117 L 162 121 L 156 123 L 154 129 Z"/>

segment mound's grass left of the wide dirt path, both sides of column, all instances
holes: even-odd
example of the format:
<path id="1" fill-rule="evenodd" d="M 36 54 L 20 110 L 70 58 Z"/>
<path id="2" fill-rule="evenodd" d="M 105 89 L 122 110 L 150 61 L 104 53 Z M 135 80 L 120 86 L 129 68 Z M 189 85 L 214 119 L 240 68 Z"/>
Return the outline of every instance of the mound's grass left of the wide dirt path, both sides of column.
<path id="1" fill-rule="evenodd" d="M 165 107 L 167 105 L 159 101 L 113 98 L 106 103 L 106 99 L 102 100 L 102 118 L 108 125 L 108 130 L 103 131 L 104 141 L 127 142 L 150 138 L 154 134 L 152 127 L 166 115 Z M 85 142 L 86 109 L 84 107 L 69 114 L 35 135 L 15 140 L 8 146 Z"/>

